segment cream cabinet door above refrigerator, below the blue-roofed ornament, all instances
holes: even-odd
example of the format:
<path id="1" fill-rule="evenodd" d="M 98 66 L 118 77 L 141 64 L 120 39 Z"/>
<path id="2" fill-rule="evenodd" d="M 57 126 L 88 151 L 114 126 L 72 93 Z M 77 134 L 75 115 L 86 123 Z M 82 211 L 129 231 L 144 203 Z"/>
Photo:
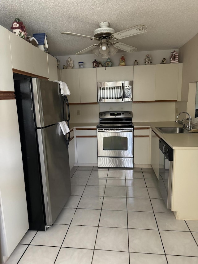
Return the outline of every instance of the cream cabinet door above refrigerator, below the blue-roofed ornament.
<path id="1" fill-rule="evenodd" d="M 33 45 L 31 46 L 33 53 L 34 74 L 49 78 L 47 53 Z"/>

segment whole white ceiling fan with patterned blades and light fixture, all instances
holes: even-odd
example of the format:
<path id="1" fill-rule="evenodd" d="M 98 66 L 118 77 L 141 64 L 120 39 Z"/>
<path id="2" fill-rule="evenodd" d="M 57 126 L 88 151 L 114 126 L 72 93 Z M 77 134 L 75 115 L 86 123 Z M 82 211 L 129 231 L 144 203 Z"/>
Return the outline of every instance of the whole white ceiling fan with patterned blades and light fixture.
<path id="1" fill-rule="evenodd" d="M 84 54 L 91 50 L 97 56 L 101 53 L 102 58 L 108 58 L 110 55 L 114 55 L 118 51 L 118 49 L 124 50 L 126 52 L 136 51 L 137 48 L 129 46 L 117 40 L 123 39 L 125 37 L 131 37 L 133 35 L 141 34 L 147 31 L 146 26 L 137 25 L 135 27 L 128 28 L 115 33 L 115 30 L 113 28 L 109 28 L 109 25 L 110 25 L 109 22 L 100 22 L 99 23 L 100 28 L 94 30 L 94 37 L 71 33 L 71 32 L 61 32 L 61 33 L 100 41 L 99 44 L 93 44 L 88 48 L 77 52 L 75 55 Z"/>

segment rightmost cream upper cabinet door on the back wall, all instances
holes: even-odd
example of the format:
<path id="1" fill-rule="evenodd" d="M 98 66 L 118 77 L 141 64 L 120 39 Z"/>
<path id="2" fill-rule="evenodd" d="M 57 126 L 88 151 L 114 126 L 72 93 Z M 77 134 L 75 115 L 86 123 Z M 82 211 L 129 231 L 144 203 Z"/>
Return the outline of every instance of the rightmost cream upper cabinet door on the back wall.
<path id="1" fill-rule="evenodd" d="M 179 63 L 156 65 L 155 100 L 177 100 Z"/>

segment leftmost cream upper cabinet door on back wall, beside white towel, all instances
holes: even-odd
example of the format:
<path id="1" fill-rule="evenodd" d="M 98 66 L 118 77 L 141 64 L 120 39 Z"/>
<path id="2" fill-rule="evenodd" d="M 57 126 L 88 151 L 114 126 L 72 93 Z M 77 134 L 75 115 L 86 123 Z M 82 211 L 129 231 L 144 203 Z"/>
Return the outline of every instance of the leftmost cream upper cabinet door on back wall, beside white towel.
<path id="1" fill-rule="evenodd" d="M 79 69 L 66 69 L 61 72 L 62 81 L 67 84 L 71 93 L 68 96 L 69 103 L 80 103 Z"/>

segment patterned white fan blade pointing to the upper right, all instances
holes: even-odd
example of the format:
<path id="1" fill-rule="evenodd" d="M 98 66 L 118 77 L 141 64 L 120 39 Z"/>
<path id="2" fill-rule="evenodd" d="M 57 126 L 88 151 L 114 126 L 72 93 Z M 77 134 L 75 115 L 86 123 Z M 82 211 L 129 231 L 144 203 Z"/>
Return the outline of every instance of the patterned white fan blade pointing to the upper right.
<path id="1" fill-rule="evenodd" d="M 122 39 L 125 37 L 131 37 L 133 35 L 141 34 L 144 32 L 147 32 L 147 27 L 144 25 L 137 25 L 135 27 L 128 28 L 128 29 L 125 29 L 125 30 L 120 31 L 120 32 L 116 32 L 116 33 L 111 35 L 111 38 Z"/>

